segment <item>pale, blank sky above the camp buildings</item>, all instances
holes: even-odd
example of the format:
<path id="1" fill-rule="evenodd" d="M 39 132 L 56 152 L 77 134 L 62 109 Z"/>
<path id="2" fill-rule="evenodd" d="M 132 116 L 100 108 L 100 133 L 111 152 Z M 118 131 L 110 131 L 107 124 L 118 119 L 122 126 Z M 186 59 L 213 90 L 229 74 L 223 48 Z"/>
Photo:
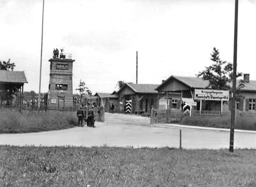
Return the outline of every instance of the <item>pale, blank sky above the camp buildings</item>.
<path id="1" fill-rule="evenodd" d="M 256 0 L 239 0 L 237 71 L 256 80 Z M 119 80 L 160 84 L 195 77 L 213 47 L 233 63 L 235 0 L 45 0 L 41 92 L 53 49 L 72 54 L 73 91 L 112 93 Z M 24 91 L 39 91 L 43 0 L 0 0 L 0 61 L 24 71 Z"/>

